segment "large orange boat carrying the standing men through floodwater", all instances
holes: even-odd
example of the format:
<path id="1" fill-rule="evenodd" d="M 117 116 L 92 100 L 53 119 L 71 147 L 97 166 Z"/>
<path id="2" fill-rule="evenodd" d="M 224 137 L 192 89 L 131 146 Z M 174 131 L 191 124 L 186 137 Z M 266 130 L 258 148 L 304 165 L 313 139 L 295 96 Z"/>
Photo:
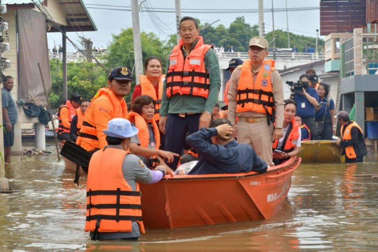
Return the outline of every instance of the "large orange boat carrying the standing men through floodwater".
<path id="1" fill-rule="evenodd" d="M 174 175 L 140 183 L 143 222 L 148 228 L 178 228 L 271 218 L 300 162 L 292 157 L 263 174 Z"/>

